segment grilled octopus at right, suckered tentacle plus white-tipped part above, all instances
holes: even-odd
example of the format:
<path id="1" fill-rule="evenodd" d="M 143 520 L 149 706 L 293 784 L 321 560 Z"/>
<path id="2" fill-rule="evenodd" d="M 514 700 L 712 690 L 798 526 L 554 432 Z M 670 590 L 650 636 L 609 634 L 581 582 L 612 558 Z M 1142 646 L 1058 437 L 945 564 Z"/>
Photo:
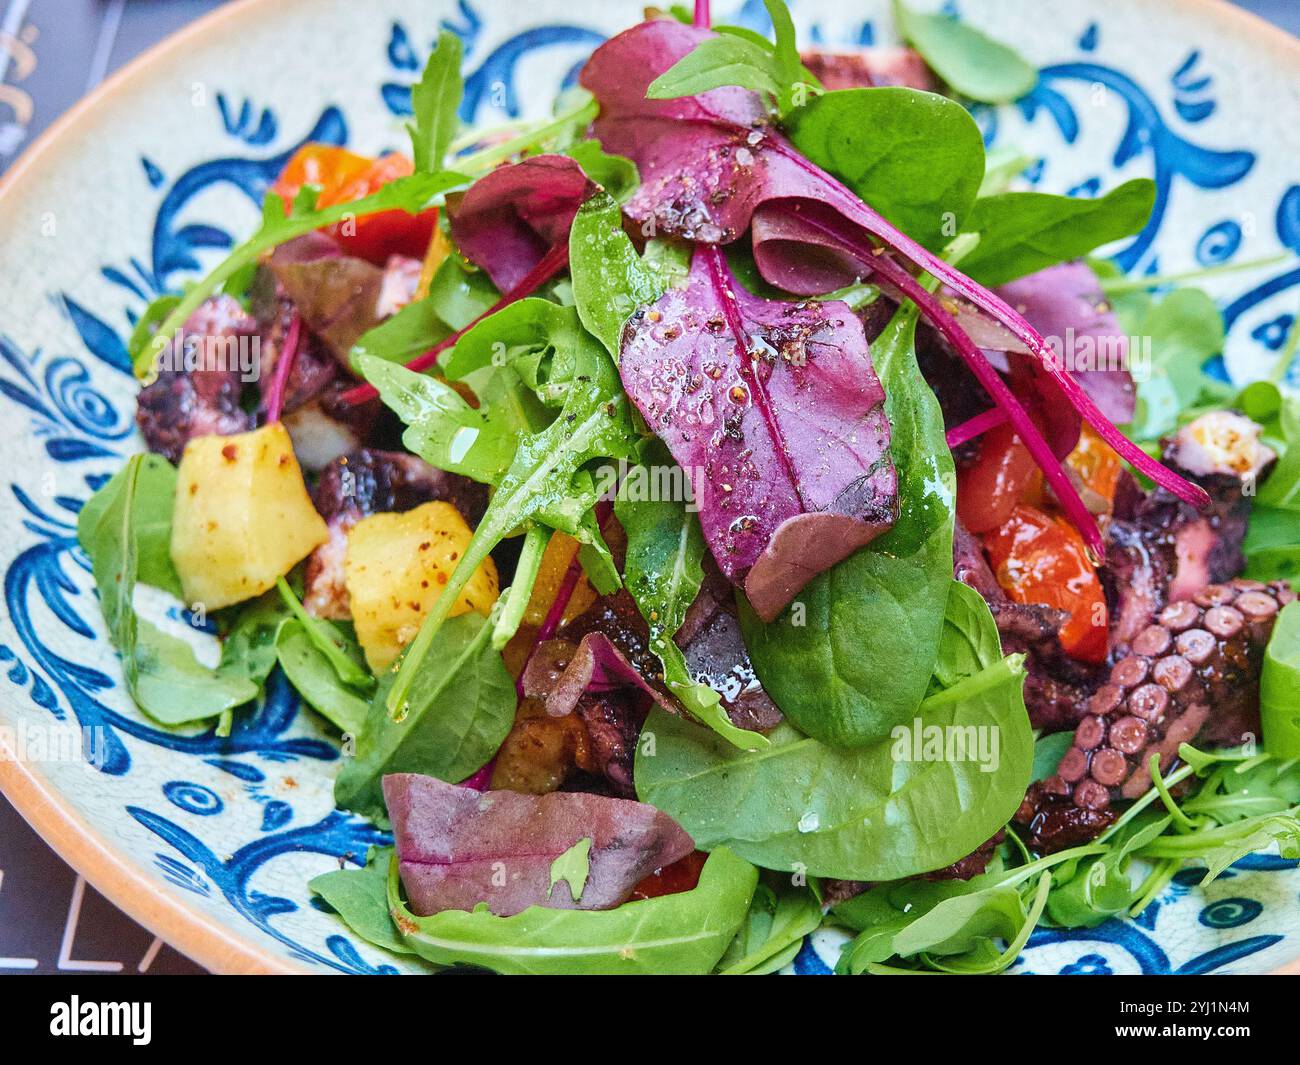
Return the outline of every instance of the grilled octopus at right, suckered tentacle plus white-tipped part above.
<path id="1" fill-rule="evenodd" d="M 1249 515 L 1247 486 L 1273 460 L 1258 427 L 1205 415 L 1166 442 L 1165 462 L 1196 479 L 1199 514 L 1161 490 L 1109 532 L 1110 667 L 1079 703 L 1074 741 L 1034 784 L 1015 822 L 1039 852 L 1074 847 L 1115 819 L 1115 802 L 1167 772 L 1184 743 L 1231 746 L 1258 733 L 1260 667 L 1273 624 L 1295 599 L 1283 583 L 1235 577 Z"/>

